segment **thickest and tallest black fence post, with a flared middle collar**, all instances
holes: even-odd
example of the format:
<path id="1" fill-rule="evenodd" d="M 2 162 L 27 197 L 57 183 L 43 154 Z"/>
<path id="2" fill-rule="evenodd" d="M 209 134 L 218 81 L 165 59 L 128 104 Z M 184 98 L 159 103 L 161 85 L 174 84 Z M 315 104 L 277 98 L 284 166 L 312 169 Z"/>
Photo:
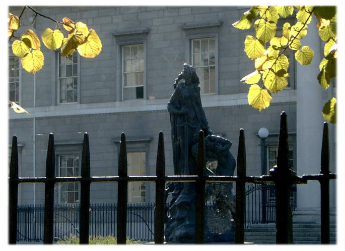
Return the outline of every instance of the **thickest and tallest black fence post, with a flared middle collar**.
<path id="1" fill-rule="evenodd" d="M 277 165 L 270 170 L 274 177 L 276 191 L 276 242 L 277 244 L 293 243 L 292 213 L 290 207 L 291 177 L 294 171 L 289 166 L 287 115 L 281 114 Z"/>

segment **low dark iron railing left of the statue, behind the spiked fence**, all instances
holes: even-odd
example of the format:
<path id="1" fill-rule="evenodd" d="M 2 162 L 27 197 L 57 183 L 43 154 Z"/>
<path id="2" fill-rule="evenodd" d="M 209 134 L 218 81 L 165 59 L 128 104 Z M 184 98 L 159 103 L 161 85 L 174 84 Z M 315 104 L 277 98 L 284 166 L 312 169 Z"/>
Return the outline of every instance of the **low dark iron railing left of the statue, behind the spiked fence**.
<path id="1" fill-rule="evenodd" d="M 89 232 L 92 236 L 116 236 L 116 204 L 91 204 Z M 127 236 L 132 240 L 154 240 L 154 203 L 128 203 Z M 40 242 L 44 237 L 44 206 L 18 206 L 17 241 Z M 54 206 L 54 241 L 79 237 L 79 205 Z"/>

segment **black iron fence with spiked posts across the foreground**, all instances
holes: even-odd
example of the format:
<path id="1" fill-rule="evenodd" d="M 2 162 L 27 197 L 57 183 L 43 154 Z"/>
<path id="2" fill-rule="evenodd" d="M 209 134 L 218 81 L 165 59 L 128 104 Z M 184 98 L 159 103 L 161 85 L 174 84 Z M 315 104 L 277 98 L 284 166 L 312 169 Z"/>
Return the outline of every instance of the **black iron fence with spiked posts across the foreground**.
<path id="1" fill-rule="evenodd" d="M 316 136 L 315 136 L 316 137 Z M 321 137 L 321 136 L 320 136 Z M 90 176 L 90 150 L 88 134 L 84 135 L 82 151 L 82 174 L 80 177 L 55 177 L 55 153 L 54 136 L 49 135 L 46 176 L 34 178 L 18 177 L 18 146 L 17 137 L 13 137 L 12 154 L 10 163 L 9 178 L 9 242 L 17 242 L 17 211 L 18 211 L 18 185 L 19 183 L 45 184 L 44 200 L 44 237 L 46 244 L 53 243 L 54 239 L 54 185 L 57 182 L 80 182 L 81 198 L 79 213 L 79 236 L 80 243 L 89 243 L 90 234 L 90 184 L 91 182 L 117 182 L 117 211 L 116 211 L 116 238 L 118 244 L 125 244 L 127 237 L 127 184 L 129 181 L 151 181 L 156 184 L 156 210 L 154 220 L 155 243 L 164 242 L 164 189 L 166 182 L 195 182 L 196 183 L 196 210 L 195 218 L 205 218 L 205 184 L 207 182 L 236 182 L 236 213 L 235 213 L 235 243 L 244 243 L 246 192 L 245 184 L 260 183 L 274 184 L 275 186 L 275 222 L 277 226 L 277 243 L 293 243 L 292 239 L 292 213 L 291 213 L 291 185 L 306 184 L 308 180 L 318 180 L 321 187 L 321 243 L 329 243 L 329 180 L 335 179 L 336 174 L 329 172 L 329 146 L 328 146 L 328 125 L 324 123 L 321 151 L 321 172 L 320 174 L 296 176 L 289 167 L 289 148 L 287 115 L 281 114 L 281 126 L 279 135 L 279 147 L 277 166 L 270 170 L 269 175 L 246 176 L 246 153 L 244 130 L 240 129 L 239 147 L 237 155 L 236 176 L 206 176 L 205 175 L 205 149 L 204 135 L 199 133 L 199 144 L 197 153 L 196 175 L 166 176 L 163 133 L 159 134 L 157 151 L 157 169 L 155 176 L 128 176 L 126 160 L 125 135 L 121 135 L 120 154 L 118 162 L 118 176 Z M 317 153 L 315 153 L 317 154 Z M 318 169 L 318 167 L 315 167 Z M 204 243 L 204 220 L 195 221 L 195 243 Z"/>

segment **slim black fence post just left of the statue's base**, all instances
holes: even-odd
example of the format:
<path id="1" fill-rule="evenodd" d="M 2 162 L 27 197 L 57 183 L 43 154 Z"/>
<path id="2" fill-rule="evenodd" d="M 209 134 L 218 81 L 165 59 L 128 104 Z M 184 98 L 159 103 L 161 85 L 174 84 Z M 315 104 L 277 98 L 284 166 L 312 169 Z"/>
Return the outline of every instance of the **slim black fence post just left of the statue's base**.
<path id="1" fill-rule="evenodd" d="M 164 189 L 165 189 L 165 155 L 164 135 L 159 133 L 156 164 L 156 210 L 155 210 L 155 243 L 164 243 Z"/>

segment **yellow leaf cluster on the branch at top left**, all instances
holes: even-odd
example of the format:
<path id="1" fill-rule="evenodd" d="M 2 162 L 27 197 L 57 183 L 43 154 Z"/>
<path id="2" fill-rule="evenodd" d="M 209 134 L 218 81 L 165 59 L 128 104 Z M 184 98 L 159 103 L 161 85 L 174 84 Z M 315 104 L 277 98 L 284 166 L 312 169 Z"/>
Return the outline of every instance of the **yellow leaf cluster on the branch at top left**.
<path id="1" fill-rule="evenodd" d="M 29 9 L 34 11 L 32 8 Z M 36 11 L 34 12 L 36 15 L 39 14 Z M 66 17 L 62 19 L 62 22 L 54 22 L 56 23 L 56 29 L 47 28 L 41 35 L 45 47 L 52 51 L 60 49 L 60 53 L 64 57 L 70 56 L 76 51 L 86 58 L 94 58 L 100 54 L 102 42 L 96 31 L 89 29 L 86 24 L 82 22 L 75 23 Z M 10 40 L 14 37 L 14 32 L 19 29 L 20 25 L 20 17 L 10 13 L 8 18 L 8 36 Z M 28 72 L 35 73 L 44 65 L 40 39 L 35 31 L 31 29 L 12 43 L 12 51 L 14 55 L 21 58 L 22 66 Z"/>

